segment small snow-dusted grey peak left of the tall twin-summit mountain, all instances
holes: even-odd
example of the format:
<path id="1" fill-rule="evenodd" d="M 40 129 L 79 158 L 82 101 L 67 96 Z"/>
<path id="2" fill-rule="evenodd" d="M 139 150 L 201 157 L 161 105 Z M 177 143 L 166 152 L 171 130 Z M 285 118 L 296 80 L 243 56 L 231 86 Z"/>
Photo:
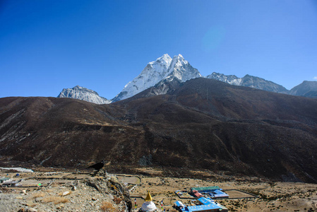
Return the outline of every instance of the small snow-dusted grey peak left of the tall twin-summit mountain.
<path id="1" fill-rule="evenodd" d="M 97 105 L 109 104 L 111 101 L 98 95 L 94 90 L 75 86 L 73 88 L 64 88 L 57 98 L 72 98 L 76 100 L 84 100 Z"/>

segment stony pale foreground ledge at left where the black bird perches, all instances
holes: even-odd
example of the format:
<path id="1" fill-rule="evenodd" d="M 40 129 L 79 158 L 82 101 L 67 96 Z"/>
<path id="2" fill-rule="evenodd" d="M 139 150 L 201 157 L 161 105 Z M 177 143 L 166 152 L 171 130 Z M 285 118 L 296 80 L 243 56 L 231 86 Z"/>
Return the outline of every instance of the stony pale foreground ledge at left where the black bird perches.
<path id="1" fill-rule="evenodd" d="M 46 175 L 45 173 L 50 173 Z M 59 174 L 54 174 L 59 173 Z M 23 178 L 33 176 L 40 186 L 23 184 L 23 187 L 2 187 L 0 211 L 128 211 L 131 208 L 128 191 L 116 176 L 89 174 L 63 179 L 63 172 L 34 172 L 23 174 Z M 16 173 L 2 172 L 0 176 L 13 177 Z M 13 176 L 12 176 L 13 175 Z M 39 178 L 41 177 L 41 178 Z M 43 177 L 50 178 L 49 183 Z M 14 177 L 13 177 L 14 179 Z M 34 184 L 34 182 L 32 183 Z M 42 183 L 43 182 L 43 183 Z"/>

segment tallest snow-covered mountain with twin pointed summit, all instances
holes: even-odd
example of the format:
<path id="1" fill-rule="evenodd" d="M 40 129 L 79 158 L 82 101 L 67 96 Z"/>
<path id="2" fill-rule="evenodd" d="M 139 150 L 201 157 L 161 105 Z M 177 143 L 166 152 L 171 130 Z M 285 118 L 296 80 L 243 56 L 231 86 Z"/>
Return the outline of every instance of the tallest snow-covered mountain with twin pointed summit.
<path id="1" fill-rule="evenodd" d="M 160 81 L 167 79 L 172 81 L 174 78 L 179 81 L 188 81 L 191 78 L 201 77 L 201 73 L 194 69 L 181 54 L 172 59 L 168 54 L 164 54 L 156 61 L 150 62 L 139 76 L 124 86 L 124 89 L 116 95 L 113 102 L 131 98 L 133 95 L 142 92 Z"/>

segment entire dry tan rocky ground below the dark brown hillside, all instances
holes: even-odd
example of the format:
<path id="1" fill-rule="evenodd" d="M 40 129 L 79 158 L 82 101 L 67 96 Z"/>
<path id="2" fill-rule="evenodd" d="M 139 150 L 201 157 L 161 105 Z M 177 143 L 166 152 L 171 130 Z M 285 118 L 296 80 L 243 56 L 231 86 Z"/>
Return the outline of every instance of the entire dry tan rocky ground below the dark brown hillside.
<path id="1" fill-rule="evenodd" d="M 147 191 L 158 208 L 163 201 L 166 211 L 175 211 L 174 201 L 195 201 L 191 196 L 179 199 L 176 190 L 205 186 L 219 186 L 229 194 L 229 199 L 217 200 L 229 211 L 317 211 L 317 184 L 270 182 L 208 171 L 193 171 L 200 179 L 160 177 L 161 170 L 154 168 L 139 171 L 144 175 L 114 176 L 103 171 L 93 177 L 88 172 L 44 169 L 16 176 L 12 170 L 0 170 L 1 177 L 25 179 L 23 187 L 1 188 L 0 211 L 128 211 L 131 201 L 136 211 L 134 200 L 140 207 Z"/>

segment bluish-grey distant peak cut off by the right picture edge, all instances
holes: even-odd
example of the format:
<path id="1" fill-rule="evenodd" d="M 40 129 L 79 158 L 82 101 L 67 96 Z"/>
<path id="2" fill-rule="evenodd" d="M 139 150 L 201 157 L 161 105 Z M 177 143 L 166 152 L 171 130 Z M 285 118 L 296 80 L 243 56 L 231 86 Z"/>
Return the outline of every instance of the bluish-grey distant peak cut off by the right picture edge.
<path id="1" fill-rule="evenodd" d="M 289 94 L 317 98 L 317 81 L 304 81 L 292 88 Z"/>

